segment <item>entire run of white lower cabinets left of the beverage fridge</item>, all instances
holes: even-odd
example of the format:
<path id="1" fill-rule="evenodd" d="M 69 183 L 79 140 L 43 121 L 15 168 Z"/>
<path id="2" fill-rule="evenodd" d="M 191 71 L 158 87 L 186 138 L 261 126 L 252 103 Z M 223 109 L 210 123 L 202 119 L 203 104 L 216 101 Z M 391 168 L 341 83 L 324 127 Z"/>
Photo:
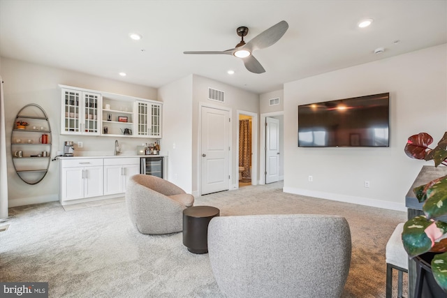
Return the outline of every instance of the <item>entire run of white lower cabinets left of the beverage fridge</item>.
<path id="1" fill-rule="evenodd" d="M 126 192 L 129 177 L 139 173 L 139 157 L 62 158 L 59 199 L 64 204 L 70 200 L 122 194 Z"/>

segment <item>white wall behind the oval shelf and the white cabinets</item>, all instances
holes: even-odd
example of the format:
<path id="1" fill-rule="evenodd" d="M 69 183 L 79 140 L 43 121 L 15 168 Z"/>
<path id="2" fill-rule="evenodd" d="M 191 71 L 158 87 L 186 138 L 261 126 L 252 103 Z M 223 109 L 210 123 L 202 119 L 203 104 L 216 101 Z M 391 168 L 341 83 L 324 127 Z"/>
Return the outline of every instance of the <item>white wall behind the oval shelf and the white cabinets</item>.
<path id="1" fill-rule="evenodd" d="M 125 94 L 156 100 L 157 90 L 129 84 L 122 81 L 108 80 L 94 77 L 85 73 L 62 70 L 31 64 L 24 61 L 7 59 L 1 57 L 1 75 L 3 77 L 3 90 L 6 111 L 6 147 L 10 156 L 10 133 L 15 122 L 15 115 L 19 110 L 29 103 L 36 103 L 50 119 L 52 128 L 52 154 L 63 150 L 66 140 L 76 142 L 82 141 L 84 147 L 75 149 L 75 155 L 95 155 L 95 152 L 113 152 L 115 139 L 124 151 L 135 151 L 137 145 L 149 142 L 150 139 L 125 138 L 125 137 L 81 137 L 71 135 L 60 135 L 61 119 L 61 91 L 58 84 L 66 84 L 73 87 L 82 87 L 98 91 L 108 91 L 115 94 Z M 163 151 L 163 144 L 162 144 Z M 135 151 L 136 152 L 136 151 Z M 15 173 L 12 158 L 8 160 L 8 200 L 9 207 L 23 204 L 35 204 L 58 200 L 59 193 L 59 162 L 50 163 L 50 169 L 45 178 L 36 185 L 25 184 Z"/>

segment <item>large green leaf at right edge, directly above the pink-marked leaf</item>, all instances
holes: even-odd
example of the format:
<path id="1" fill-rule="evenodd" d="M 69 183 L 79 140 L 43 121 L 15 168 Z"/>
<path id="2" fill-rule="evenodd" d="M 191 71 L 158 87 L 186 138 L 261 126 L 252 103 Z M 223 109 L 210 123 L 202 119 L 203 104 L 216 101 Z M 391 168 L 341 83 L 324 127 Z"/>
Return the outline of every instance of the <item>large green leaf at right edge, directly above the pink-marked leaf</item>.
<path id="1" fill-rule="evenodd" d="M 423 193 L 425 194 L 421 198 L 427 200 L 422 209 L 427 219 L 447 214 L 447 175 L 426 184 Z"/>

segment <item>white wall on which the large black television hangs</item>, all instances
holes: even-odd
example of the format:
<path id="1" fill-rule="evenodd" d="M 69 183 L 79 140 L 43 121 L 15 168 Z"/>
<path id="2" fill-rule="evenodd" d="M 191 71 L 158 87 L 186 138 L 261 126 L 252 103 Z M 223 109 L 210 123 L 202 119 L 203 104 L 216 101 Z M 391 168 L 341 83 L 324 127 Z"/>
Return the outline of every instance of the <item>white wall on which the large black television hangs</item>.
<path id="1" fill-rule="evenodd" d="M 284 191 L 405 211 L 420 167 L 433 164 L 408 158 L 407 138 L 426 132 L 437 142 L 447 128 L 446 60 L 444 44 L 284 84 Z M 390 147 L 298 147 L 298 105 L 382 92 L 390 92 Z"/>

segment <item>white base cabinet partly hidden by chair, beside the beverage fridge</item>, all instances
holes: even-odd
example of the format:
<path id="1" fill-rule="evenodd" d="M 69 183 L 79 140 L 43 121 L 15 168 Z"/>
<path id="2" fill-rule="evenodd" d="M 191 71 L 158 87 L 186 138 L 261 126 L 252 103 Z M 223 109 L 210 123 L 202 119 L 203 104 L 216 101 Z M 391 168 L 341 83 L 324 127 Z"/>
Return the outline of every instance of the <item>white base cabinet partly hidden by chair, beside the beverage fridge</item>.
<path id="1" fill-rule="evenodd" d="M 140 158 L 104 159 L 104 195 L 126 192 L 127 180 L 140 173 Z"/>

